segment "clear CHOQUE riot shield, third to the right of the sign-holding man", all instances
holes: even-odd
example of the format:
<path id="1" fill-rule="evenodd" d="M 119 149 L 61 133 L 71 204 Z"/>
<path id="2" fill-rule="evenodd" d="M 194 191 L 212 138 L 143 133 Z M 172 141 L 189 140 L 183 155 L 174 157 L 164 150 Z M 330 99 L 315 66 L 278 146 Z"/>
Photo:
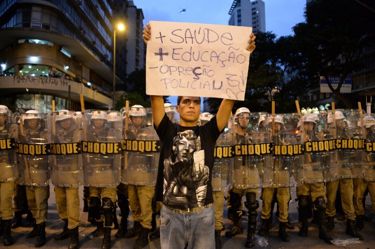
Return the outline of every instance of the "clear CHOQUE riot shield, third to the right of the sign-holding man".
<path id="1" fill-rule="evenodd" d="M 295 187 L 302 182 L 302 138 L 297 114 L 269 117 L 270 141 L 273 143 L 273 187 Z"/>

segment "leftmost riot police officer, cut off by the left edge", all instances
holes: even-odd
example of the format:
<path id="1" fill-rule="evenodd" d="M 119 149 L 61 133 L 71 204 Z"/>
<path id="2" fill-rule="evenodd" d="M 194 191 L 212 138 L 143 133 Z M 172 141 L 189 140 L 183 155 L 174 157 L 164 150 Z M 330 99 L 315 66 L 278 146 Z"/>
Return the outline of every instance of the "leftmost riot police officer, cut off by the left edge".
<path id="1" fill-rule="evenodd" d="M 5 140 L 7 146 L 0 150 L 0 217 L 3 234 L 3 245 L 13 245 L 10 232 L 10 222 L 13 218 L 12 195 L 17 179 L 15 165 L 15 135 L 12 112 L 8 107 L 0 105 L 0 140 Z"/>

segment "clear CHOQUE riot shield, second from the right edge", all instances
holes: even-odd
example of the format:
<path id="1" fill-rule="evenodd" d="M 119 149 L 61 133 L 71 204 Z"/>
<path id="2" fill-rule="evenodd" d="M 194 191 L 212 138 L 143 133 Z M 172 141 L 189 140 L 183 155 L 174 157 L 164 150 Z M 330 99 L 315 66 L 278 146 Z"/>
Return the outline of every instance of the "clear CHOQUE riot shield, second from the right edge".
<path id="1" fill-rule="evenodd" d="M 362 127 L 358 126 L 359 110 L 336 109 L 337 171 L 339 178 L 358 178 L 364 174 L 364 145 Z"/>

